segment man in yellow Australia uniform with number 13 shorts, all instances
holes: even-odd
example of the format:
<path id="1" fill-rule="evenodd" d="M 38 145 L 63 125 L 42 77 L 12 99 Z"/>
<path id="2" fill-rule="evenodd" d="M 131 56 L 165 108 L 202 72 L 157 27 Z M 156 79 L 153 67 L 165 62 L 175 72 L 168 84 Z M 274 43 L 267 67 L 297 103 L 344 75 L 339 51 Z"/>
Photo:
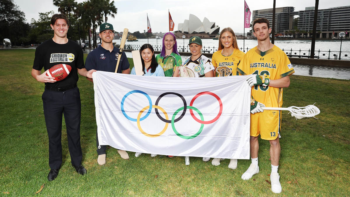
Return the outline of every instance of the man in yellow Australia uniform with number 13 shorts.
<path id="1" fill-rule="evenodd" d="M 247 77 L 248 84 L 252 87 L 251 95 L 257 101 L 257 107 L 251 111 L 250 116 L 250 154 L 252 164 L 241 176 L 243 180 L 250 179 L 259 173 L 258 136 L 270 142 L 271 158 L 271 190 L 274 193 L 282 192 L 279 181 L 278 166 L 281 146 L 279 142 L 281 130 L 281 111 L 262 110 L 260 106 L 281 107 L 283 87 L 290 84 L 289 75 L 294 73 L 292 64 L 287 55 L 270 42 L 269 22 L 265 18 L 255 19 L 253 22 L 253 34 L 258 39 L 258 45 L 249 50 L 237 67 L 241 75 Z M 262 104 L 261 104 L 262 103 Z M 252 107 L 251 107 L 252 108 Z M 260 113 L 255 113 L 260 112 Z"/>

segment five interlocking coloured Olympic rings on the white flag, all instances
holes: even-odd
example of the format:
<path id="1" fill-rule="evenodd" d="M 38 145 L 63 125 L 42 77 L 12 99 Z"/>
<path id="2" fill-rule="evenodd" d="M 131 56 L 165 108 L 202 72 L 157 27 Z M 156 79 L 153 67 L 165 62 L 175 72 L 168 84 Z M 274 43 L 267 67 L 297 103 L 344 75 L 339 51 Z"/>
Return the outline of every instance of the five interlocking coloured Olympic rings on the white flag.
<path id="1" fill-rule="evenodd" d="M 146 96 L 146 98 L 148 99 L 148 102 L 149 102 L 149 106 L 144 107 L 144 108 L 139 112 L 139 114 L 138 114 L 138 116 L 137 116 L 137 119 L 129 117 L 129 116 L 125 113 L 125 110 L 124 110 L 124 101 L 125 101 L 126 97 L 129 96 L 129 95 L 132 94 L 132 93 L 141 93 L 141 94 L 144 94 L 144 95 Z M 183 107 L 180 107 L 178 110 L 176 110 L 176 111 L 174 112 L 174 114 L 173 114 L 171 120 L 168 119 L 168 114 L 166 113 L 166 111 L 165 111 L 162 107 L 158 106 L 158 103 L 159 103 L 160 99 L 161 99 L 163 96 L 168 95 L 168 94 L 174 94 L 174 95 L 176 95 L 176 96 L 179 96 L 179 97 L 181 98 L 182 102 L 183 102 L 183 105 L 184 105 Z M 204 121 L 203 114 L 202 114 L 196 107 L 192 106 L 193 103 L 194 103 L 194 101 L 196 100 L 196 98 L 198 98 L 199 96 L 201 96 L 201 95 L 203 95 L 203 94 L 209 94 L 209 95 L 215 97 L 215 98 L 218 100 L 218 102 L 219 102 L 219 107 L 220 107 L 220 108 L 219 108 L 219 113 L 218 113 L 218 115 L 217 115 L 214 119 L 209 120 L 209 121 Z M 162 135 L 162 134 L 167 130 L 168 124 L 171 123 L 174 133 L 175 133 L 177 136 L 179 136 L 180 138 L 183 138 L 183 139 L 193 139 L 193 138 L 197 137 L 197 136 L 203 131 L 204 124 L 211 124 L 211 123 L 215 122 L 216 120 L 218 120 L 219 117 L 220 117 L 221 114 L 222 114 L 222 111 L 223 111 L 223 105 L 222 105 L 221 99 L 220 99 L 216 94 L 214 94 L 214 93 L 212 93 L 212 92 L 200 92 L 200 93 L 196 94 L 196 96 L 194 96 L 193 99 L 191 100 L 190 105 L 187 106 L 186 100 L 185 100 L 184 97 L 183 97 L 181 94 L 179 94 L 179 93 L 175 93 L 175 92 L 166 92 L 166 93 L 163 93 L 163 94 L 161 94 L 161 95 L 157 98 L 157 100 L 156 100 L 156 102 L 155 102 L 155 105 L 152 105 L 151 97 L 149 97 L 147 93 L 145 93 L 145 92 L 143 92 L 143 91 L 141 91 L 141 90 L 132 90 L 132 91 L 126 93 L 126 94 L 124 95 L 123 99 L 121 99 L 120 108 L 121 108 L 121 112 L 123 112 L 124 116 L 125 116 L 128 120 L 137 122 L 137 126 L 138 126 L 140 132 L 141 132 L 142 134 L 146 135 L 147 137 L 155 138 L 155 137 L 158 137 L 158 136 Z M 152 108 L 155 108 L 155 112 L 156 112 L 157 117 L 158 117 L 160 120 L 162 120 L 163 122 L 165 122 L 165 126 L 164 126 L 163 130 L 162 130 L 161 132 L 157 133 L 157 134 L 154 134 L 154 135 L 153 135 L 153 134 L 148 134 L 148 133 L 146 133 L 146 132 L 141 128 L 141 126 L 140 126 L 140 121 L 145 120 L 145 119 L 148 117 L 148 115 L 149 115 L 149 114 L 151 113 L 151 111 L 152 111 Z M 196 134 L 194 134 L 194 135 L 191 135 L 191 136 L 184 136 L 184 135 L 180 134 L 179 132 L 177 132 L 177 131 L 176 131 L 176 128 L 175 128 L 175 122 L 181 120 L 181 119 L 184 117 L 184 115 L 186 114 L 187 108 L 190 109 L 190 114 L 191 114 L 192 118 L 193 118 L 194 120 L 196 120 L 198 123 L 201 123 L 201 127 L 200 127 L 200 129 L 198 130 L 198 132 L 197 132 Z M 142 113 L 143 113 L 145 110 L 147 110 L 147 109 L 148 109 L 148 112 L 144 115 L 144 117 L 141 118 Z M 163 117 L 161 117 L 161 115 L 159 114 L 158 109 L 159 109 L 160 111 L 163 112 L 163 114 L 165 115 L 165 118 L 166 118 L 166 119 L 164 119 Z M 177 115 L 181 110 L 183 110 L 182 114 L 180 115 L 179 118 L 175 119 L 176 115 Z M 200 115 L 201 120 L 198 119 L 198 118 L 194 115 L 193 110 L 195 110 L 195 111 Z"/>

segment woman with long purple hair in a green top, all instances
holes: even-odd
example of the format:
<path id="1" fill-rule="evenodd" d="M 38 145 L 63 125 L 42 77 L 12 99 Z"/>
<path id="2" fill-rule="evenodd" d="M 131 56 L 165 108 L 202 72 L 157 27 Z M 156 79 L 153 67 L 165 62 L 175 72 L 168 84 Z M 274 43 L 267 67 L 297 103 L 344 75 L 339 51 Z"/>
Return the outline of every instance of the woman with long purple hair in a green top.
<path id="1" fill-rule="evenodd" d="M 182 64 L 181 56 L 179 52 L 177 52 L 177 43 L 176 43 L 175 35 L 171 32 L 166 33 L 163 37 L 162 52 L 161 54 L 158 54 L 155 58 L 158 64 L 163 66 L 162 64 L 163 58 L 167 55 L 172 55 L 175 57 L 176 66 L 180 66 Z"/>

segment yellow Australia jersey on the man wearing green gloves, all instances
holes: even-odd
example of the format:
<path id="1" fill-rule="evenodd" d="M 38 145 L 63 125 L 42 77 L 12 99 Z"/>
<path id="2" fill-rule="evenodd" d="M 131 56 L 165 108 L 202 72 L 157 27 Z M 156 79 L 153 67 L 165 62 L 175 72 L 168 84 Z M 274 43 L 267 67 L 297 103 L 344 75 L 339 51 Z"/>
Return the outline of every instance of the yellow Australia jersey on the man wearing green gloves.
<path id="1" fill-rule="evenodd" d="M 241 59 L 237 71 L 240 75 L 264 75 L 266 73 L 273 80 L 294 73 L 287 55 L 276 45 L 265 52 L 261 52 L 257 47 L 250 49 Z M 281 107 L 282 93 L 282 88 L 254 85 L 251 95 L 266 107 Z"/>

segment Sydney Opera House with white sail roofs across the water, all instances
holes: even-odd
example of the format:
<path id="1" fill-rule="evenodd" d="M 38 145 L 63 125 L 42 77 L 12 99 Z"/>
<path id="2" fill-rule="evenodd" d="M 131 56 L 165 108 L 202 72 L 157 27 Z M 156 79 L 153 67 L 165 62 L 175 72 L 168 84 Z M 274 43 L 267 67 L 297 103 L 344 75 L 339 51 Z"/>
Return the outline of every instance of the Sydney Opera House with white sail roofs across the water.
<path id="1" fill-rule="evenodd" d="M 220 27 L 215 25 L 215 22 L 210 22 L 206 17 L 204 17 L 202 22 L 197 16 L 190 14 L 188 20 L 186 19 L 183 23 L 179 23 L 177 31 L 174 31 L 174 34 L 178 38 L 182 38 L 182 35 L 185 35 L 186 38 L 192 36 L 212 38 L 219 33 L 219 30 Z"/>

